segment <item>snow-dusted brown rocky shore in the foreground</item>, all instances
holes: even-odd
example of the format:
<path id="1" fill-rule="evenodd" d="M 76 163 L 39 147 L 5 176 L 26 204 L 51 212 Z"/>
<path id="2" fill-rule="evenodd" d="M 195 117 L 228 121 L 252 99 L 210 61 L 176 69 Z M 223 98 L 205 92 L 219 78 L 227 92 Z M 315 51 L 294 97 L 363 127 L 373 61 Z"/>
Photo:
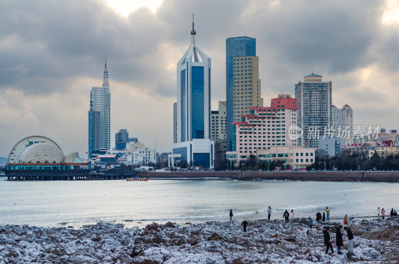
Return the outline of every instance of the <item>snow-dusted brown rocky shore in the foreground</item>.
<path id="1" fill-rule="evenodd" d="M 336 222 L 309 229 L 305 218 L 240 223 L 206 222 L 184 226 L 168 222 L 144 229 L 98 223 L 86 229 L 0 227 L 0 264 L 20 263 L 399 263 L 399 218 L 350 220 L 355 252 L 335 247 Z M 325 255 L 322 230 L 329 226 L 334 255 Z M 343 225 L 345 226 L 345 225 Z"/>

